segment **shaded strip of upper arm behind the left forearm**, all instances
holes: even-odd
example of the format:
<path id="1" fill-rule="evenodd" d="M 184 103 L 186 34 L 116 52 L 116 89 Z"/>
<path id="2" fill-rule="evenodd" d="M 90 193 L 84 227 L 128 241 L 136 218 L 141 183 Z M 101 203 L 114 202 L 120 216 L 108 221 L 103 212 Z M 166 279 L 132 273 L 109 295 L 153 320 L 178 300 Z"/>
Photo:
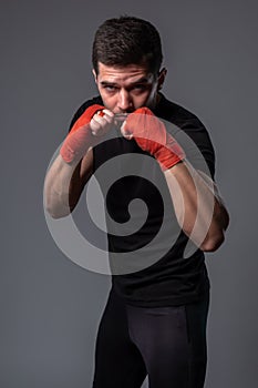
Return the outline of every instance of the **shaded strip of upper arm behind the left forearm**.
<path id="1" fill-rule="evenodd" d="M 75 167 L 69 186 L 69 204 L 71 212 L 76 206 L 82 191 L 93 174 L 93 151 L 89 149 L 85 156 L 80 161 Z"/>

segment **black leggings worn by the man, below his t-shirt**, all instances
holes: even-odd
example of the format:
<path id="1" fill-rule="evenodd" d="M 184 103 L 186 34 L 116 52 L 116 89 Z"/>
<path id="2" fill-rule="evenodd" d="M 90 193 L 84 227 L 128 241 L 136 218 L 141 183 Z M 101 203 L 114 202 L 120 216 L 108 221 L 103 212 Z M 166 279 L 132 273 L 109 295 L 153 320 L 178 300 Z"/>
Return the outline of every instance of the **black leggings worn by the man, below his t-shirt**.
<path id="1" fill-rule="evenodd" d="M 125 305 L 112 290 L 96 339 L 93 388 L 203 388 L 208 295 L 173 307 Z"/>

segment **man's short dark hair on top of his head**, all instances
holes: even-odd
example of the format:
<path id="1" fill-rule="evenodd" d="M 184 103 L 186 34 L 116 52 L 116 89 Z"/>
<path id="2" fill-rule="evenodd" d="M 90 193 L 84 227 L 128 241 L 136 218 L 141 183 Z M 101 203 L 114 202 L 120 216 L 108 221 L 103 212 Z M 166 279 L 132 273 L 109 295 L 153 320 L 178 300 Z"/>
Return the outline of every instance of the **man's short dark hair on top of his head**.
<path id="1" fill-rule="evenodd" d="M 146 20 L 123 16 L 109 19 L 95 33 L 92 63 L 105 65 L 144 64 L 157 73 L 163 60 L 162 42 L 156 28 Z"/>

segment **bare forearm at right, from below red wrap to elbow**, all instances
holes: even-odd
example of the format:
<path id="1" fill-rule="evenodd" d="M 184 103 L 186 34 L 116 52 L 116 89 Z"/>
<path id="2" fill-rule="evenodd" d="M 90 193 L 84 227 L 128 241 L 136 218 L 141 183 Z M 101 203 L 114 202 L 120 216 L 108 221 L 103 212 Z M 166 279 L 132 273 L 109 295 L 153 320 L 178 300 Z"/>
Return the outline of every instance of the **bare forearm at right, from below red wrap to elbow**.
<path id="1" fill-rule="evenodd" d="M 183 231 L 203 251 L 216 251 L 224 242 L 229 217 L 214 187 L 187 162 L 164 174 Z"/>

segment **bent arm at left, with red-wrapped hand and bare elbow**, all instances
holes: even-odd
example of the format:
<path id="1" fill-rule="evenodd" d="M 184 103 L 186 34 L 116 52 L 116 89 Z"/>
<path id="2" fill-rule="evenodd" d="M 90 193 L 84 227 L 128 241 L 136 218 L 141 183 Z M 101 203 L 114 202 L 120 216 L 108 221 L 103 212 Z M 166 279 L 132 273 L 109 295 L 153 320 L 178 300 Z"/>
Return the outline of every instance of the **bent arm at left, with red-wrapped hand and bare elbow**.
<path id="1" fill-rule="evenodd" d="M 99 113 L 102 113 L 99 115 Z M 74 123 L 44 183 L 44 205 L 49 214 L 63 217 L 75 207 L 93 170 L 92 146 L 112 127 L 114 114 L 102 105 L 91 105 Z"/>

